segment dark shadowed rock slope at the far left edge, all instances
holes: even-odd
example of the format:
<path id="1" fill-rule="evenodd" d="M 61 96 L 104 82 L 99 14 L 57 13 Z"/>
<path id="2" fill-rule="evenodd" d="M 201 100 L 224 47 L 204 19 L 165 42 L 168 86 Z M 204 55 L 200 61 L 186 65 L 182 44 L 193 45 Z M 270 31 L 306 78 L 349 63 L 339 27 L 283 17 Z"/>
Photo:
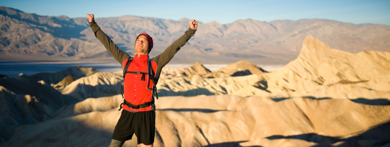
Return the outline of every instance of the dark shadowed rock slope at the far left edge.
<path id="1" fill-rule="evenodd" d="M 25 74 L 0 78 L 0 143 L 12 136 L 15 127 L 49 120 L 56 110 L 76 102 L 77 98 L 61 95 Z"/>

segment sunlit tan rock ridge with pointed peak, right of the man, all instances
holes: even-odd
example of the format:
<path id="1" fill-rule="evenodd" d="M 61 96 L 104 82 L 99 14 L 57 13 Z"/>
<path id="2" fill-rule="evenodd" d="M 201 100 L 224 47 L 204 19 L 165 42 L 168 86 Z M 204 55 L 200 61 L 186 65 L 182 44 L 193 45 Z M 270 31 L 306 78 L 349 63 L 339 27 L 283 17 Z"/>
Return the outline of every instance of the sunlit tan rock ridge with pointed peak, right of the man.
<path id="1" fill-rule="evenodd" d="M 390 68 L 387 65 L 390 65 L 389 52 L 348 53 L 331 49 L 309 36 L 297 59 L 271 73 L 264 73 L 256 65 L 242 61 L 207 75 L 162 79 L 157 89 L 162 96 L 229 94 L 390 100 Z M 232 77 L 236 73 L 252 74 Z"/>

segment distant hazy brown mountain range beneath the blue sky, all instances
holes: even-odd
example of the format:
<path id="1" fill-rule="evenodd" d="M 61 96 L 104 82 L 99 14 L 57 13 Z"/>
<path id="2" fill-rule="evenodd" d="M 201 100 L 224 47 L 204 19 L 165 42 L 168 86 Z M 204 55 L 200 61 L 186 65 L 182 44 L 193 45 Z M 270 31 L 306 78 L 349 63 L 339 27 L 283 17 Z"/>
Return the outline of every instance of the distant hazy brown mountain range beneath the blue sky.
<path id="1" fill-rule="evenodd" d="M 95 17 L 119 48 L 130 54 L 135 37 L 141 32 L 154 38 L 151 56 L 155 56 L 188 28 L 186 18 L 173 21 L 130 15 Z M 95 38 L 86 17 L 39 16 L 0 7 L 0 27 L 0 60 L 77 60 L 110 56 Z M 389 25 L 355 25 L 321 19 L 271 22 L 247 19 L 225 25 L 200 23 L 196 35 L 171 63 L 230 64 L 246 60 L 255 64 L 286 64 L 297 57 L 308 35 L 331 48 L 352 53 L 390 50 Z"/>

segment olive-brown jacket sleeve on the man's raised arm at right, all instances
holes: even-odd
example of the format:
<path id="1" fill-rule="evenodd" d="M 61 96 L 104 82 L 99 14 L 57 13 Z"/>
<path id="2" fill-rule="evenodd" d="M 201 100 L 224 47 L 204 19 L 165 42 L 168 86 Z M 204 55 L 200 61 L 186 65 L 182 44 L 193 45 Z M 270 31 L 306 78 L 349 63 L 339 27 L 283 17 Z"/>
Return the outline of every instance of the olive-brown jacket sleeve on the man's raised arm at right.
<path id="1" fill-rule="evenodd" d="M 167 49 L 165 49 L 161 54 L 157 55 L 156 62 L 158 67 L 162 68 L 173 58 L 173 56 L 182 48 L 187 41 L 194 36 L 195 29 L 188 28 L 179 39 L 172 43 Z"/>

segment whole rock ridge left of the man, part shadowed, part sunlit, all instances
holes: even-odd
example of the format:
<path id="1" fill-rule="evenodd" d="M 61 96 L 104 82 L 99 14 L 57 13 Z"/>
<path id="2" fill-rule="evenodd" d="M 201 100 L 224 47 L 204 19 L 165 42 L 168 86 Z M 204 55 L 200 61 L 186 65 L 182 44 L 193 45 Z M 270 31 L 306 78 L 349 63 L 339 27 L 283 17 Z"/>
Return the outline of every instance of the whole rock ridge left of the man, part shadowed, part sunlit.
<path id="1" fill-rule="evenodd" d="M 90 78 L 78 79 L 74 83 L 75 86 L 66 87 L 74 82 L 73 76 L 80 78 L 92 73 L 96 73 L 97 76 L 91 75 L 88 76 Z M 21 73 L 16 78 L 0 78 L 1 118 L 4 120 L 0 123 L 1 128 L 3 128 L 0 142 L 7 140 L 17 126 L 52 119 L 61 107 L 89 97 L 119 94 L 123 78 L 119 75 L 116 75 L 117 78 L 115 78 L 114 75 L 116 74 L 99 73 L 92 68 L 77 66 L 57 73 L 38 73 L 32 76 Z M 37 81 L 40 79 L 39 77 L 42 77 L 42 80 Z M 60 77 L 65 78 L 52 86 L 56 87 L 57 90 L 69 92 L 65 95 L 50 86 L 52 81 L 58 80 Z M 87 84 L 85 85 L 85 83 Z"/>

